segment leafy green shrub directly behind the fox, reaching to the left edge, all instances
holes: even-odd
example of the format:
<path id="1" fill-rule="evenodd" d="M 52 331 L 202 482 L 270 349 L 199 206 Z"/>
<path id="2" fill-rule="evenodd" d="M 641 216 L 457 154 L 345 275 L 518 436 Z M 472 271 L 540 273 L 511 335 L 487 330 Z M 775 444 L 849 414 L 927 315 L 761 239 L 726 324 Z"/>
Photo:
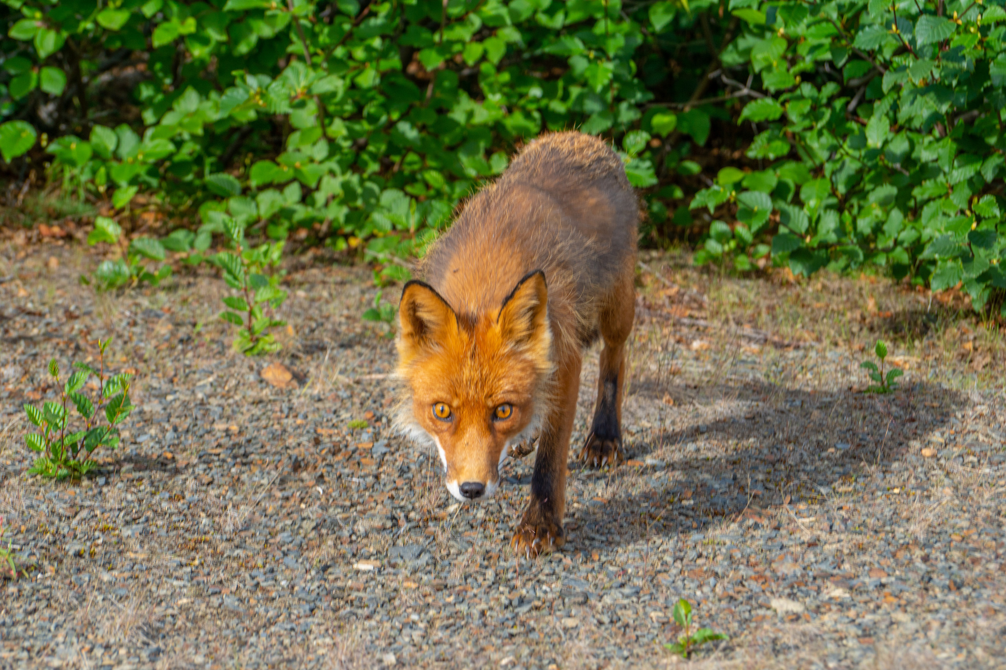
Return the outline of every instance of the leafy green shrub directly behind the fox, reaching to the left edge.
<path id="1" fill-rule="evenodd" d="M 704 144 L 716 110 L 672 107 L 709 86 L 696 38 L 733 34 L 710 0 L 4 2 L 6 161 L 37 142 L 68 189 L 117 206 L 142 189 L 197 213 L 164 241 L 192 263 L 224 212 L 252 235 L 305 228 L 362 251 L 381 284 L 407 278 L 384 261 L 422 253 L 543 130 L 625 136 L 639 187 L 694 174 L 677 140 Z M 110 97 L 122 104 L 95 114 Z M 648 200 L 659 223 L 667 207 Z"/>

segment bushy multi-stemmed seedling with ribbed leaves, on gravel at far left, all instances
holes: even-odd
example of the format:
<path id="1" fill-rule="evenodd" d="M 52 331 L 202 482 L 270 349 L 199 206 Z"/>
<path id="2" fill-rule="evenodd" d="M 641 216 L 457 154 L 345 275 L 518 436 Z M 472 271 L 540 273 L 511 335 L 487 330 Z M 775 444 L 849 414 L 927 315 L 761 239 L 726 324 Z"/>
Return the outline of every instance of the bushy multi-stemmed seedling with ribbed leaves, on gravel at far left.
<path id="1" fill-rule="evenodd" d="M 63 385 L 59 403 L 46 402 L 42 409 L 24 406 L 28 420 L 42 429 L 41 433 L 29 433 L 24 437 L 28 448 L 41 454 L 28 470 L 30 474 L 56 479 L 81 477 L 98 466 L 91 458 L 95 449 L 115 449 L 119 445 L 118 426 L 133 411 L 133 405 L 129 399 L 129 375 L 105 378 L 105 351 L 110 342 L 111 338 L 98 341 L 101 362 L 98 370 L 86 363 L 73 364 L 76 371 Z M 81 393 L 92 375 L 98 377 L 94 400 Z M 59 366 L 55 359 L 49 361 L 49 376 L 59 383 Z M 66 401 L 70 401 L 82 417 L 81 430 L 67 433 Z M 107 425 L 101 425 L 100 410 L 103 408 Z"/>

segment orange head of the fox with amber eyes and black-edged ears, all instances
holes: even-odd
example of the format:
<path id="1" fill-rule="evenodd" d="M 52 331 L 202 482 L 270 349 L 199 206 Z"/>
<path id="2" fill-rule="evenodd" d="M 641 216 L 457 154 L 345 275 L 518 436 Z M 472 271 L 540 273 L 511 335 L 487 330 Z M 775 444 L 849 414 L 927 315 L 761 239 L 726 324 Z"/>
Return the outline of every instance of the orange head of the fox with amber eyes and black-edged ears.
<path id="1" fill-rule="evenodd" d="M 459 314 L 433 287 L 409 281 L 398 319 L 398 376 L 410 392 L 399 425 L 437 446 L 454 497 L 490 497 L 509 446 L 537 429 L 549 396 L 544 273 L 479 314 Z"/>

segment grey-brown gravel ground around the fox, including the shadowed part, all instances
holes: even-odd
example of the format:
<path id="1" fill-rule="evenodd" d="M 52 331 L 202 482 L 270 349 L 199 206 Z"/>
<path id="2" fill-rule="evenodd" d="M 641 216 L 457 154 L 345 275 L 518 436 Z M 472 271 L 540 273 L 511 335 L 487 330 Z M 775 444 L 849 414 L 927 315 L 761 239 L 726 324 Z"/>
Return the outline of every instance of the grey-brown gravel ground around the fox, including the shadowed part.
<path id="1" fill-rule="evenodd" d="M 1006 357 L 953 299 L 648 258 L 632 460 L 570 463 L 567 543 L 528 563 L 508 541 L 530 457 L 459 505 L 392 432 L 366 268 L 291 264 L 284 350 L 248 360 L 220 280 L 96 296 L 97 262 L 0 246 L 0 515 L 24 571 L 0 583 L 0 667 L 664 667 L 678 598 L 730 638 L 698 666 L 1006 667 Z M 865 395 L 884 333 L 906 375 Z M 82 483 L 27 476 L 22 403 L 107 334 L 136 373 L 122 446 Z"/>

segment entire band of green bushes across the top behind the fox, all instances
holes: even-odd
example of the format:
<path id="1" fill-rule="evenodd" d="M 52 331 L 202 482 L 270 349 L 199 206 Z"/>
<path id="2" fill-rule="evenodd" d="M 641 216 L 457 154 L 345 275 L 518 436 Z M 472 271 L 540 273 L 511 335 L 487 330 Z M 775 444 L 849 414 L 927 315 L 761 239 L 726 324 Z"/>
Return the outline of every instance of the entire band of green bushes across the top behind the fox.
<path id="1" fill-rule="evenodd" d="M 238 226 L 400 282 L 520 144 L 577 128 L 645 238 L 709 210 L 700 263 L 1006 286 L 1002 0 L 3 3 L 0 155 L 120 224 L 142 192 L 172 262 L 223 267 Z M 103 284 L 159 279 L 135 242 Z"/>

